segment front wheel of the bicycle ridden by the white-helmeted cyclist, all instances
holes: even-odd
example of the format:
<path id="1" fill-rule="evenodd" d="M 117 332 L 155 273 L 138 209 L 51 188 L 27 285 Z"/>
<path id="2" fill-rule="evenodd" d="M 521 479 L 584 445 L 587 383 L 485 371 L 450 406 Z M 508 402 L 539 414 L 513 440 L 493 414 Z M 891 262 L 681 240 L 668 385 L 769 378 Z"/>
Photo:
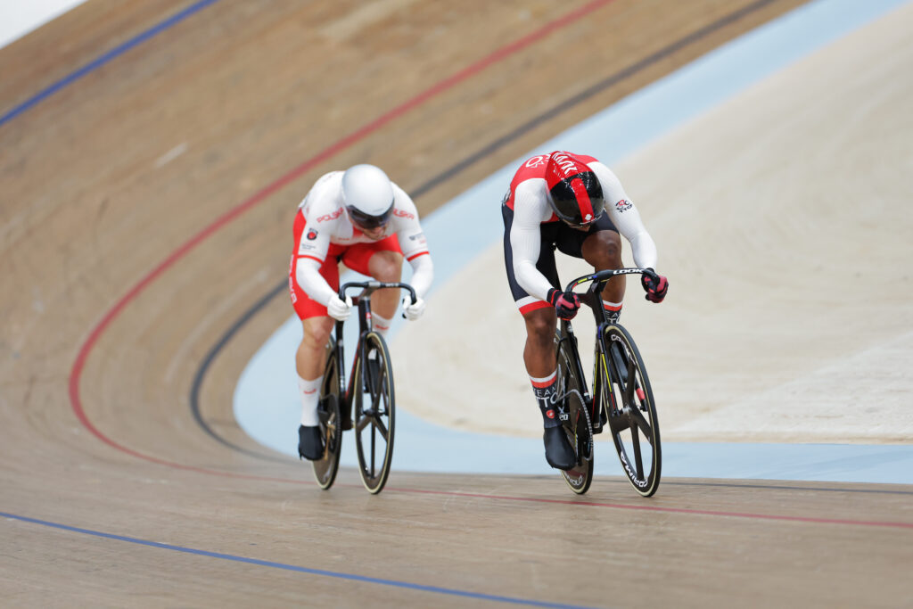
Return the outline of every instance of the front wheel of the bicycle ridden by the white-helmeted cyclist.
<path id="1" fill-rule="evenodd" d="M 394 456 L 394 376 L 390 352 L 377 332 L 368 332 L 354 371 L 355 445 L 364 488 L 381 492 Z"/>

